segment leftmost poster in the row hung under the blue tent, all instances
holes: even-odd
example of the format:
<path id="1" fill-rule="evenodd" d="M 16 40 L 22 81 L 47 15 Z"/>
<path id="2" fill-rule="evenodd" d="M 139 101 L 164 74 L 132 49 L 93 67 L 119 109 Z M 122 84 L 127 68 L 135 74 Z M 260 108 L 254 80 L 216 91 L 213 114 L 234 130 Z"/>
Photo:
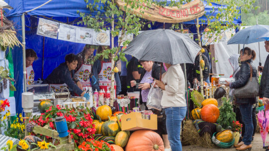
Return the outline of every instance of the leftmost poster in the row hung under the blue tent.
<path id="1" fill-rule="evenodd" d="M 57 39 L 58 29 L 59 29 L 58 22 L 39 18 L 36 34 Z"/>

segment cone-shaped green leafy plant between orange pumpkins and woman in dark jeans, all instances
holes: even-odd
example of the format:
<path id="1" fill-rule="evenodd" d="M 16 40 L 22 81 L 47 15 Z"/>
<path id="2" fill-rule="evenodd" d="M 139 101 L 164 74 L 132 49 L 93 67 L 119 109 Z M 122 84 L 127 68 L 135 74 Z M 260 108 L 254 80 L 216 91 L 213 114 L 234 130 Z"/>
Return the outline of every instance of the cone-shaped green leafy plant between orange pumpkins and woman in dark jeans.
<path id="1" fill-rule="evenodd" d="M 223 105 L 219 108 L 220 116 L 217 123 L 227 129 L 228 126 L 233 126 L 233 121 L 236 121 L 236 114 L 233 111 L 233 106 L 230 104 L 230 101 L 228 101 L 225 97 L 222 98 L 222 101 Z"/>

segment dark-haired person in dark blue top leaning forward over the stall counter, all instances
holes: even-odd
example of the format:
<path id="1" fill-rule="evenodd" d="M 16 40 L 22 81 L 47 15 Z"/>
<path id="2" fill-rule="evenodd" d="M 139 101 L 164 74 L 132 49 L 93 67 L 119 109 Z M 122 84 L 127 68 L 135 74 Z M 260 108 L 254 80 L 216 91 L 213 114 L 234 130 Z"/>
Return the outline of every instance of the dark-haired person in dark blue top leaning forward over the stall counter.
<path id="1" fill-rule="evenodd" d="M 63 87 L 68 86 L 76 94 L 84 96 L 87 100 L 90 98 L 90 95 L 83 90 L 81 90 L 75 81 L 74 70 L 77 67 L 79 58 L 74 54 L 69 54 L 65 56 L 65 62 L 56 67 L 50 75 L 44 80 L 43 83 L 50 85 L 50 89 L 53 91 L 61 91 Z"/>

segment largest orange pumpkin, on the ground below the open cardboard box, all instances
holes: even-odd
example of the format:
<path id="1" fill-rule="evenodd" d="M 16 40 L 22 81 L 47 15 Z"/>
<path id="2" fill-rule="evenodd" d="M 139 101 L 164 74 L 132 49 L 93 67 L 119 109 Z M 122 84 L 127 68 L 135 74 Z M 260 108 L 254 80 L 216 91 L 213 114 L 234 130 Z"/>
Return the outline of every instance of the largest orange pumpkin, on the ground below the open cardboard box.
<path id="1" fill-rule="evenodd" d="M 156 132 L 138 130 L 129 138 L 125 151 L 164 151 L 164 146 Z"/>

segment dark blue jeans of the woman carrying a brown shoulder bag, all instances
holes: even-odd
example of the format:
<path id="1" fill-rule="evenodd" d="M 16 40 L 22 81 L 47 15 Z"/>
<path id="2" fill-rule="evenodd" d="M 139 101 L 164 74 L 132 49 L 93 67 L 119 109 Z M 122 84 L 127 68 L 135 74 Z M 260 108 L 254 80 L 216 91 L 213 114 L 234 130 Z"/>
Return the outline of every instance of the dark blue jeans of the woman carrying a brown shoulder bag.
<path id="1" fill-rule="evenodd" d="M 245 134 L 242 142 L 244 142 L 245 145 L 250 145 L 254 129 L 252 123 L 252 104 L 240 104 L 239 109 L 242 115 L 242 120 L 245 124 Z"/>

